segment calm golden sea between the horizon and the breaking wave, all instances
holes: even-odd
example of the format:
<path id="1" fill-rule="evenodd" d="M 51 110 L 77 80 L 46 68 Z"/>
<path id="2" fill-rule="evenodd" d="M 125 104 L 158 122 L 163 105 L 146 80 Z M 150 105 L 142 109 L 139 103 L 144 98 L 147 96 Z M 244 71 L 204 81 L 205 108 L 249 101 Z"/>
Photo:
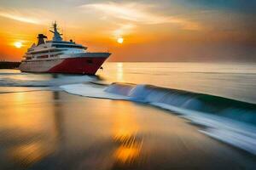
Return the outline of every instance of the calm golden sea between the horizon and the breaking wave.
<path id="1" fill-rule="evenodd" d="M 254 63 L 105 63 L 97 77 L 1 70 L 1 87 L 58 87 L 96 80 L 129 82 L 212 94 L 256 104 Z M 15 89 L 15 88 L 13 88 Z M 0 92 L 4 92 L 2 88 Z"/>

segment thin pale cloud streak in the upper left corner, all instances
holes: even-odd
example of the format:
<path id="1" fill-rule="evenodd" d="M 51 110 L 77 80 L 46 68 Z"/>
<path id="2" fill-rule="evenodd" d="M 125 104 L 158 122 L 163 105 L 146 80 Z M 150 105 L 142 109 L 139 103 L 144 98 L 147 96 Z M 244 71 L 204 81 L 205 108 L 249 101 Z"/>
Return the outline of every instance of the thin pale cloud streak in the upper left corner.
<path id="1" fill-rule="evenodd" d="M 17 20 L 36 25 L 45 25 L 46 23 L 49 23 L 49 20 L 45 19 L 48 18 L 47 16 L 49 16 L 49 14 L 38 9 L 16 10 L 0 8 L 0 16 L 10 20 Z"/>

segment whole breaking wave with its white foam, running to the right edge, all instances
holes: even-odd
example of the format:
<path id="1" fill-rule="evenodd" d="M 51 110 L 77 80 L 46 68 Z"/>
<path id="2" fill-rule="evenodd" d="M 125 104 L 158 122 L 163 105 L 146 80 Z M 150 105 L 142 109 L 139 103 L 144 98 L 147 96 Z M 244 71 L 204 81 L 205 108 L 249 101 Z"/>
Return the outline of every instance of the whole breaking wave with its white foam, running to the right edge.
<path id="1" fill-rule="evenodd" d="M 152 85 L 113 83 L 61 86 L 67 93 L 103 99 L 125 99 L 175 111 L 203 125 L 202 133 L 256 155 L 256 105 L 234 99 Z"/>

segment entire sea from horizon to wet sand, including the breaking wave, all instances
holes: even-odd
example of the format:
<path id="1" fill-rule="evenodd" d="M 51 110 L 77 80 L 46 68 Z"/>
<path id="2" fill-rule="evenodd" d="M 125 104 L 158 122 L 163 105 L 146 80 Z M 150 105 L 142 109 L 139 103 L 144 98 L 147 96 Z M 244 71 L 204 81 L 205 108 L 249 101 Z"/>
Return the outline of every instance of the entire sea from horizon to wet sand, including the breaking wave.
<path id="1" fill-rule="evenodd" d="M 170 116 L 175 113 L 200 126 L 199 133 L 256 155 L 256 67 L 253 63 L 107 62 L 102 67 L 96 76 L 0 70 L 0 95 L 45 91 L 95 98 L 95 101 L 125 100 L 145 108 L 154 107 L 155 111 L 166 111 Z M 6 102 L 3 98 L 0 101 Z M 98 105 L 94 102 L 91 107 Z"/>

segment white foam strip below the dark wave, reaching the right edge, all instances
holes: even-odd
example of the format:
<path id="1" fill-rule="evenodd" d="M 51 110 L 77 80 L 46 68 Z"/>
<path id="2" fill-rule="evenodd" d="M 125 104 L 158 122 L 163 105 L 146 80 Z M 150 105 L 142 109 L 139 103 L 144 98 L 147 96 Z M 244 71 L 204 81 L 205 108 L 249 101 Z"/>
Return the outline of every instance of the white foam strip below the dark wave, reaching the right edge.
<path id="1" fill-rule="evenodd" d="M 205 133 L 212 138 L 219 139 L 227 144 L 231 144 L 242 150 L 247 150 L 256 155 L 256 127 L 252 125 L 221 116 L 190 111 L 162 103 L 151 103 L 151 105 L 169 111 L 176 111 L 191 122 L 206 126 L 207 128 L 200 130 L 201 133 Z"/>

